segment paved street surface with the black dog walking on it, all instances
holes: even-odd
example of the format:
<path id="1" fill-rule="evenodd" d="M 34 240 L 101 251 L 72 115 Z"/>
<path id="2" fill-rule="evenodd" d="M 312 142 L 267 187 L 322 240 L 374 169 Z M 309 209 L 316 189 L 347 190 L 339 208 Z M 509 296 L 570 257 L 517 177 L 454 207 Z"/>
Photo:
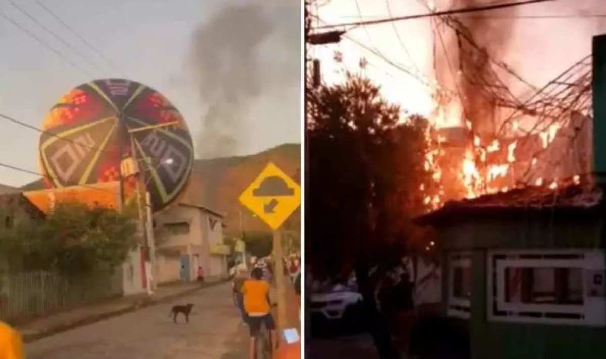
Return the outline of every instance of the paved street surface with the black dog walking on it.
<path id="1" fill-rule="evenodd" d="M 190 323 L 168 317 L 171 306 L 194 303 Z M 34 341 L 27 359 L 240 359 L 248 328 L 231 300 L 229 283 L 201 289 L 173 303 L 139 311 Z"/>

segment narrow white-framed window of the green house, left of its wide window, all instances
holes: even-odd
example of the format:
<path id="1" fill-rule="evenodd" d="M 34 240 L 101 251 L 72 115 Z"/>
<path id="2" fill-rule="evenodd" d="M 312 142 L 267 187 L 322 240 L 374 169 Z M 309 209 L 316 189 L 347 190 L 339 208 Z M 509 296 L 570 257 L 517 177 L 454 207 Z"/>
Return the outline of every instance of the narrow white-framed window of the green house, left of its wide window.
<path id="1" fill-rule="evenodd" d="M 471 254 L 455 252 L 448 257 L 448 315 L 469 318 L 471 309 Z"/>

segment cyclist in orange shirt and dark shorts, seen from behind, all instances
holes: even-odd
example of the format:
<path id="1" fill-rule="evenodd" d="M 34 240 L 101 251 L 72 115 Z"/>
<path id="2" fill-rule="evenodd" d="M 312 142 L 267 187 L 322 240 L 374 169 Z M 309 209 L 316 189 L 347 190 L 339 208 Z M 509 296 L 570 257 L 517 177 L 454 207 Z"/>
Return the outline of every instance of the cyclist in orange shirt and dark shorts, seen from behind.
<path id="1" fill-rule="evenodd" d="M 242 294 L 244 294 L 244 309 L 247 314 L 248 326 L 250 326 L 250 350 L 248 357 L 255 358 L 255 340 L 261 331 L 261 324 L 270 333 L 271 343 L 277 345 L 275 338 L 276 324 L 271 315 L 271 301 L 269 298 L 269 285 L 262 280 L 263 270 L 255 268 L 250 274 L 251 279 L 242 285 Z"/>

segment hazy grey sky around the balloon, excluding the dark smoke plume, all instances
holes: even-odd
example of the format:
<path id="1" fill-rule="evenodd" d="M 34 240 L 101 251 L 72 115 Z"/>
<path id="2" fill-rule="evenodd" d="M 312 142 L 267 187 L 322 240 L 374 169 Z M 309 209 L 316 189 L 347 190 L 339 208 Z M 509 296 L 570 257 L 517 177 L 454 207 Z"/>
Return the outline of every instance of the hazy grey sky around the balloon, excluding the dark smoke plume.
<path id="1" fill-rule="evenodd" d="M 94 75 L 82 73 L 0 16 L 2 114 L 40 127 L 47 111 L 73 87 L 95 78 L 127 77 L 155 88 L 173 102 L 190 127 L 198 156 L 251 154 L 301 140 L 301 7 L 298 1 L 40 0 L 116 64 L 119 71 L 104 65 L 93 50 L 48 15 L 36 1 L 13 1 L 98 65 L 87 65 L 20 13 L 10 1 L 0 0 L 0 12 Z M 201 153 L 199 149 L 204 146 L 199 142 L 205 138 L 201 131 L 211 104 L 205 96 L 209 91 L 203 87 L 204 71 L 196 67 L 204 54 L 198 51 L 194 55 L 193 37 L 198 29 L 204 31 L 205 24 L 213 22 L 213 16 L 225 13 L 225 8 L 251 3 L 262 8 L 270 25 L 268 33 L 250 49 L 249 56 L 263 66 L 264 78 L 270 78 L 273 85 L 263 83 L 260 91 L 242 99 L 245 110 L 231 114 L 230 125 L 221 129 L 232 139 L 229 148 Z M 226 26 L 238 30 L 238 24 Z M 236 38 L 232 36 L 231 39 Z M 213 47 L 204 45 L 201 48 Z M 224 53 L 229 54 L 228 51 Z M 193 59 L 195 56 L 197 58 Z M 267 73 L 268 68 L 276 68 L 276 72 Z M 223 71 L 229 73 L 228 68 Z M 38 172 L 39 133 L 4 119 L 0 119 L 0 125 L 0 163 Z M 0 183 L 7 185 L 23 185 L 38 178 L 0 168 Z"/>

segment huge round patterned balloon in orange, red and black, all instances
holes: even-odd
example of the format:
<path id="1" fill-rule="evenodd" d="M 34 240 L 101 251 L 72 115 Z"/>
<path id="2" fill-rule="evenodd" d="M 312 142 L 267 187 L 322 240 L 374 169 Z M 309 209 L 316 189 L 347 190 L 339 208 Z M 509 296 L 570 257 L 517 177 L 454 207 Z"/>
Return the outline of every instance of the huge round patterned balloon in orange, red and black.
<path id="1" fill-rule="evenodd" d="M 129 174 L 138 172 L 159 211 L 178 198 L 191 174 L 193 143 L 183 117 L 139 82 L 82 84 L 61 97 L 42 129 L 39 156 L 49 187 L 120 180 L 128 191 L 137 182 Z"/>

